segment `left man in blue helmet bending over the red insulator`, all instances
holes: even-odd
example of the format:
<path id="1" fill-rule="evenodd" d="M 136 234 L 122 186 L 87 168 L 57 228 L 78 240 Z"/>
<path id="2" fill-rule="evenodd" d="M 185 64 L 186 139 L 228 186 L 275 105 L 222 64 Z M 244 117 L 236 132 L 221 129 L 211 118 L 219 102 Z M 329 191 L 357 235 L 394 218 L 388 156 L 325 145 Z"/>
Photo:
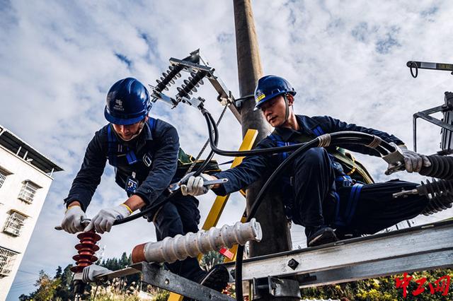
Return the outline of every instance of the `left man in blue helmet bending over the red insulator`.
<path id="1" fill-rule="evenodd" d="M 84 162 L 64 199 L 64 230 L 110 232 L 115 220 L 151 206 L 154 210 L 148 220 L 156 226 L 157 240 L 198 231 L 200 211 L 195 197 L 176 196 L 163 201 L 168 185 L 177 180 L 179 137 L 171 124 L 149 117 L 149 110 L 149 93 L 137 79 L 124 78 L 110 88 L 104 112 L 109 124 L 88 143 Z M 116 206 L 103 208 L 84 228 L 81 219 L 101 182 L 107 160 L 115 168 L 115 182 L 128 197 Z M 228 281 L 226 268 L 207 273 L 196 258 L 167 266 L 173 273 L 216 290 L 222 290 Z"/>

